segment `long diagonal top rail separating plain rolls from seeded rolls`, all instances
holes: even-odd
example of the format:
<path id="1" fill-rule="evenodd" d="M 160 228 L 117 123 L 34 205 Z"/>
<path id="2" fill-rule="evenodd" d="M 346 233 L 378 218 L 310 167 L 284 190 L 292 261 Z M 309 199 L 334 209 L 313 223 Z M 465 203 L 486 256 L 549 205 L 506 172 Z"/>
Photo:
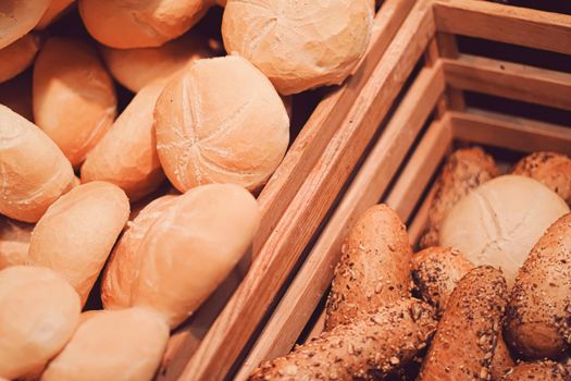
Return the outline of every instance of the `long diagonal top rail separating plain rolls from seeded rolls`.
<path id="1" fill-rule="evenodd" d="M 434 35 L 432 8 L 418 1 L 307 176 L 245 280 L 185 368 L 182 380 L 220 380 L 264 317 L 380 122 Z"/>

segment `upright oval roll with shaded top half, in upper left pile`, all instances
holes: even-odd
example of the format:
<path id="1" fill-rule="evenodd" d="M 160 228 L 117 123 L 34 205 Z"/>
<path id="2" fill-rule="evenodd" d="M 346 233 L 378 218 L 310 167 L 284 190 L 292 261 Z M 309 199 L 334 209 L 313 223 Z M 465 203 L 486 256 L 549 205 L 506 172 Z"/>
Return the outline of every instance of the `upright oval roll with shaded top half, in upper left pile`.
<path id="1" fill-rule="evenodd" d="M 34 65 L 34 118 L 77 168 L 111 127 L 113 82 L 86 42 L 52 37 Z"/>

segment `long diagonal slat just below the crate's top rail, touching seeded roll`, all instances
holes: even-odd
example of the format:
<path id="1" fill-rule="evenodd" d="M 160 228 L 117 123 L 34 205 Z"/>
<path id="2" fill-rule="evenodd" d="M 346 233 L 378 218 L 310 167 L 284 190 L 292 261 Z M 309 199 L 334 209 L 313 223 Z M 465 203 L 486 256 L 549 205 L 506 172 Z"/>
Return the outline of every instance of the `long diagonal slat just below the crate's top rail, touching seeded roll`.
<path id="1" fill-rule="evenodd" d="M 340 245 L 355 220 L 376 204 L 444 91 L 439 66 L 423 69 L 258 337 L 236 380 L 289 352 L 333 278 Z"/>

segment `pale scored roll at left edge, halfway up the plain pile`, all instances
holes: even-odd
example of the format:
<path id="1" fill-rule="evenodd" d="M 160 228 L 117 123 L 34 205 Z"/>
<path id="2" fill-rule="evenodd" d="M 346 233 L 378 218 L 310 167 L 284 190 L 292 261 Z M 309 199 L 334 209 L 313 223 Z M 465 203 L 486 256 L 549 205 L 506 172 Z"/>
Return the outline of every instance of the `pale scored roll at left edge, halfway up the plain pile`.
<path id="1" fill-rule="evenodd" d="M 0 105 L 0 213 L 36 222 L 73 186 L 73 169 L 52 140 Z"/>

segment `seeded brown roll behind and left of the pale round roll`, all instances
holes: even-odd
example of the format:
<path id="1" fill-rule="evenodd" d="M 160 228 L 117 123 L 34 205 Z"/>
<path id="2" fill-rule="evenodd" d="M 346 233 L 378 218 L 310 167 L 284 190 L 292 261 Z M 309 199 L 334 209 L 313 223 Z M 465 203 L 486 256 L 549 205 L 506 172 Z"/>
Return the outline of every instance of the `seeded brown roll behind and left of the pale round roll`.
<path id="1" fill-rule="evenodd" d="M 472 189 L 498 175 L 496 162 L 480 147 L 458 149 L 450 155 L 436 180 L 426 233 L 419 246 L 438 246 L 438 232 L 450 209 Z"/>

